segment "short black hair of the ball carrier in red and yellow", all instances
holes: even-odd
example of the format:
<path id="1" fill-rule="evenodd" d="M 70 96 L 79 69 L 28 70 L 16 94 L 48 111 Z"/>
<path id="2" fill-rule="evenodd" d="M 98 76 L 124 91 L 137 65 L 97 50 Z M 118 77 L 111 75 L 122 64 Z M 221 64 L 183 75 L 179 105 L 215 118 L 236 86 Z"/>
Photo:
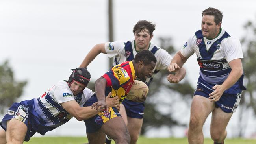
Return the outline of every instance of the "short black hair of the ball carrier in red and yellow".
<path id="1" fill-rule="evenodd" d="M 134 61 L 135 63 L 139 63 L 139 61 L 143 61 L 145 65 L 149 65 L 152 61 L 156 63 L 156 57 L 149 50 L 142 50 L 135 55 Z"/>

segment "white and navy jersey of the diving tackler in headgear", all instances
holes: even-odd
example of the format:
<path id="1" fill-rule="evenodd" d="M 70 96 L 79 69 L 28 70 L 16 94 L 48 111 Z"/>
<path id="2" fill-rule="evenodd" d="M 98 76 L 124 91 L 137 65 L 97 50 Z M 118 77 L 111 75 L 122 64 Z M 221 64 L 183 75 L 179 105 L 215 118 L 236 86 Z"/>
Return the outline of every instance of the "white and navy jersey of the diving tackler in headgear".
<path id="1" fill-rule="evenodd" d="M 22 103 L 29 106 L 29 112 L 34 115 L 33 119 L 42 126 L 58 127 L 70 120 L 73 116 L 69 114 L 60 103 L 76 100 L 80 107 L 94 94 L 88 88 L 77 96 L 74 96 L 66 81 L 59 81 L 54 87 L 45 92 L 39 98 Z"/>

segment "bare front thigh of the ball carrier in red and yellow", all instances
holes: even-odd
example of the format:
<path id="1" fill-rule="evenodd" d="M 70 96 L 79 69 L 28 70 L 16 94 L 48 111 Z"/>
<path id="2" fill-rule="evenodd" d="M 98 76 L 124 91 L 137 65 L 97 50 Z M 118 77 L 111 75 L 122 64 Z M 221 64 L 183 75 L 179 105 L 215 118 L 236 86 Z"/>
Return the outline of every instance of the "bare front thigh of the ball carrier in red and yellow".
<path id="1" fill-rule="evenodd" d="M 114 140 L 125 138 L 129 135 L 121 116 L 109 119 L 102 125 L 101 130 Z"/>

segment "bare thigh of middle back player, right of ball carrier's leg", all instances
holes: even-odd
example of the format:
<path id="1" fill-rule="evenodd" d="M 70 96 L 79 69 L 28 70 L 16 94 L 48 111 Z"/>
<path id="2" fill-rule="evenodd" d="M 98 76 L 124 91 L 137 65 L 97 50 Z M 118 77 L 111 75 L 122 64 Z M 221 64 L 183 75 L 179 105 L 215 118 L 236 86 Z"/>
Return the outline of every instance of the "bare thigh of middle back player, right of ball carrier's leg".
<path id="1" fill-rule="evenodd" d="M 131 137 L 138 137 L 141 132 L 143 118 L 130 118 L 128 117 L 127 129 Z"/>

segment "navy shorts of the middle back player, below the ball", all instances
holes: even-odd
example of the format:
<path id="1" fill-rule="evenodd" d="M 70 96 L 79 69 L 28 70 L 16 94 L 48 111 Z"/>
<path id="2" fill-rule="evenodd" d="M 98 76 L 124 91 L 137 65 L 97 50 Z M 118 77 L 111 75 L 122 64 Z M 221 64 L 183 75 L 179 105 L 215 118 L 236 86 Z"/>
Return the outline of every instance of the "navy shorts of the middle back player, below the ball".
<path id="1" fill-rule="evenodd" d="M 143 118 L 145 105 L 144 102 L 134 102 L 132 100 L 124 99 L 122 104 L 125 107 L 125 111 L 130 118 Z"/>

